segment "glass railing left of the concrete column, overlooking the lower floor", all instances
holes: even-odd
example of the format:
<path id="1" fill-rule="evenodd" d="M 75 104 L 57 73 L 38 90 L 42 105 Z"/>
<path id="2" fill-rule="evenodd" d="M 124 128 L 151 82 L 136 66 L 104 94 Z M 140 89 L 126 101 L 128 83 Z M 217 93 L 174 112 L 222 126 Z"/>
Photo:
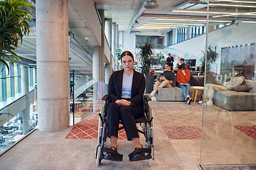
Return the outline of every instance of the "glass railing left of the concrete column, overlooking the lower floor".
<path id="1" fill-rule="evenodd" d="M 1 72 L 0 81 L 0 155 L 36 128 L 36 81 L 29 84 L 34 68 L 14 64 Z M 21 81 L 22 77 L 22 81 Z M 31 85 L 31 86 L 30 86 Z M 22 87 L 22 88 L 21 88 Z M 21 90 L 22 89 L 22 90 Z"/>

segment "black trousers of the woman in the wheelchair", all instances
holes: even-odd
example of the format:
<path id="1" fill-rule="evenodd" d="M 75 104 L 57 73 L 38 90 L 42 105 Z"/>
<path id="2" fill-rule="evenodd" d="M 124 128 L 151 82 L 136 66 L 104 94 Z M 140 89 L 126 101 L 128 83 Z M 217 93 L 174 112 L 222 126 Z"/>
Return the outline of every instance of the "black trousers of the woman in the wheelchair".
<path id="1" fill-rule="evenodd" d="M 119 106 L 112 102 L 107 107 L 107 136 L 118 137 L 119 120 L 124 125 L 127 140 L 139 137 L 135 119 L 142 117 L 136 106 Z"/>

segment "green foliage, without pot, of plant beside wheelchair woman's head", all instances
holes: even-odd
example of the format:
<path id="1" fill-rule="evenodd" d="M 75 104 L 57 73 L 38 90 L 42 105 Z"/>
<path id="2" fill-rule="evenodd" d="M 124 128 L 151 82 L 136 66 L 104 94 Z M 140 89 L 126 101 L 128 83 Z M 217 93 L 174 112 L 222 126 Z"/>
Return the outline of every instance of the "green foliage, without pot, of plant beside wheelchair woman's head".
<path id="1" fill-rule="evenodd" d="M 152 39 L 146 38 L 143 44 L 139 44 L 139 48 L 141 49 L 139 55 L 142 57 L 142 72 L 146 76 L 149 75 L 149 68 L 151 66 L 151 55 L 153 55 L 152 49 L 154 48 L 151 45 Z"/>

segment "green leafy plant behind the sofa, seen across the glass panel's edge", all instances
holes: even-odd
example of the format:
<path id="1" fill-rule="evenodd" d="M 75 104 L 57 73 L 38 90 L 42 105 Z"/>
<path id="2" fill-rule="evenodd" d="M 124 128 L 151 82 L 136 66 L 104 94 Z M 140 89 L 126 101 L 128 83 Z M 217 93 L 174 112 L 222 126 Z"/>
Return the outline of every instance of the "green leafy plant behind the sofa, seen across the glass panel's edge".
<path id="1" fill-rule="evenodd" d="M 210 44 L 207 46 L 207 61 L 206 61 L 206 52 L 201 50 L 203 52 L 203 55 L 201 57 L 201 72 L 210 72 L 210 64 L 213 64 L 218 58 L 218 52 L 217 52 L 217 46 L 214 44 Z M 206 64 L 206 65 L 205 65 Z"/>

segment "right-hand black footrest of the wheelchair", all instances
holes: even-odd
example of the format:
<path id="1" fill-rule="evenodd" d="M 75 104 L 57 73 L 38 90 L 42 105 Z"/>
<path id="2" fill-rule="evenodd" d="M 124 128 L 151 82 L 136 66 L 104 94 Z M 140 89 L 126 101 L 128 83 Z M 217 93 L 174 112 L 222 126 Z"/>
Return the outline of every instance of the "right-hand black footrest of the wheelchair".
<path id="1" fill-rule="evenodd" d="M 136 157 L 135 154 L 142 152 L 142 155 L 139 157 Z M 129 161 L 134 162 L 134 161 L 142 161 L 145 159 L 151 159 L 151 148 L 140 148 L 140 149 L 135 149 L 134 152 L 128 155 L 129 156 Z"/>

